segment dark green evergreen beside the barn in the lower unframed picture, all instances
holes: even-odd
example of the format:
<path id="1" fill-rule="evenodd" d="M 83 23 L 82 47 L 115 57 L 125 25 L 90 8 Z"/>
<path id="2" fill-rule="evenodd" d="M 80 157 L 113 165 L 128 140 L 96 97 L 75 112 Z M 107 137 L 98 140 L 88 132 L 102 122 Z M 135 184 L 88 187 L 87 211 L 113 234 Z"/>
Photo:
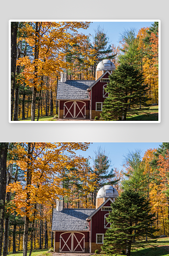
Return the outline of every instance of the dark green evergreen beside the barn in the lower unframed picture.
<path id="1" fill-rule="evenodd" d="M 145 247 L 155 242 L 143 240 L 146 236 L 155 238 L 153 233 L 156 229 L 152 227 L 155 214 L 151 214 L 149 201 L 139 193 L 125 190 L 111 207 L 112 211 L 106 218 L 111 225 L 104 236 L 104 253 L 113 254 L 127 249 L 127 256 L 130 256 L 133 248 Z"/>

